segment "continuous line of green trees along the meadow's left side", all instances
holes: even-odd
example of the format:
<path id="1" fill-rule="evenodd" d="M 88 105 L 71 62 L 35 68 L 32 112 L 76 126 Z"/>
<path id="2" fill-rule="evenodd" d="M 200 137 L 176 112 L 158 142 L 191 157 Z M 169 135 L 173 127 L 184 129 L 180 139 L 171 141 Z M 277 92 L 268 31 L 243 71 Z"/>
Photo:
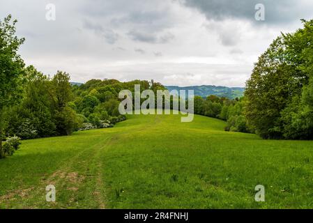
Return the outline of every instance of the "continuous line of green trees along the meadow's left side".
<path id="1" fill-rule="evenodd" d="M 20 139 L 71 134 L 77 130 L 110 128 L 125 116 L 119 114 L 119 91 L 140 84 L 141 91 L 165 89 L 158 82 L 91 79 L 70 84 L 67 72 L 53 77 L 25 66 L 18 54 L 24 38 L 15 35 L 16 20 L 0 21 L 0 157 L 12 155 Z M 4 143 L 4 144 L 3 144 Z"/>

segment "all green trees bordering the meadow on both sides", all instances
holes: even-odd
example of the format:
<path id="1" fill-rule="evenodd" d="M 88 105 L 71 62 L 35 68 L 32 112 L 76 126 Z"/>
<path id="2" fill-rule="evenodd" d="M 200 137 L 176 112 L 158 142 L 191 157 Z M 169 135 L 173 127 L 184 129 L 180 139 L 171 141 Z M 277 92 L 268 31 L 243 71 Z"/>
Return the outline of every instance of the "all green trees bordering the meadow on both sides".
<path id="1" fill-rule="evenodd" d="M 25 66 L 18 54 L 24 38 L 15 35 L 16 22 L 10 15 L 0 21 L 0 157 L 13 153 L 19 138 L 109 128 L 125 120 L 119 91 L 134 93 L 135 84 L 141 91 L 165 90 L 153 80 L 91 79 L 77 86 L 66 72 L 44 75 Z M 282 33 L 254 64 L 243 98 L 195 96 L 194 113 L 227 121 L 225 130 L 255 132 L 264 139 L 313 139 L 312 33 L 313 20 L 303 20 L 295 33 Z"/>

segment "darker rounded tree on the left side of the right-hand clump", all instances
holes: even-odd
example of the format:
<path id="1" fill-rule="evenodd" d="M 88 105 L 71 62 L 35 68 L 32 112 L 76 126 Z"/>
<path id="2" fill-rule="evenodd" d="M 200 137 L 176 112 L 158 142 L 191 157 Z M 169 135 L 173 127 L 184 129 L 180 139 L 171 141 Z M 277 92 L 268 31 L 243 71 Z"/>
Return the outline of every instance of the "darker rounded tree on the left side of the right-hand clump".
<path id="1" fill-rule="evenodd" d="M 284 39 L 277 38 L 254 65 L 251 78 L 246 82 L 247 105 L 245 116 L 264 138 L 282 137 L 280 112 L 287 105 L 293 87 L 289 79 L 292 66 L 287 63 Z"/>

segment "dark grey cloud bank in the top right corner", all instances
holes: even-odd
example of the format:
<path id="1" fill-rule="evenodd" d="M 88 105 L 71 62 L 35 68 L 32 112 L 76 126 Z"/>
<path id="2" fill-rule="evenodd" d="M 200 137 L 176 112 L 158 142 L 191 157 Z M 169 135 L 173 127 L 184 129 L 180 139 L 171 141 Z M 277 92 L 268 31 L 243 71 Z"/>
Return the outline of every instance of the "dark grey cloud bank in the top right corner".
<path id="1" fill-rule="evenodd" d="M 282 24 L 312 16 L 313 2 L 306 0 L 182 0 L 185 6 L 197 8 L 208 20 L 244 19 L 258 24 Z M 265 6 L 265 21 L 254 19 L 255 6 Z M 302 16 L 302 17 L 301 17 Z"/>

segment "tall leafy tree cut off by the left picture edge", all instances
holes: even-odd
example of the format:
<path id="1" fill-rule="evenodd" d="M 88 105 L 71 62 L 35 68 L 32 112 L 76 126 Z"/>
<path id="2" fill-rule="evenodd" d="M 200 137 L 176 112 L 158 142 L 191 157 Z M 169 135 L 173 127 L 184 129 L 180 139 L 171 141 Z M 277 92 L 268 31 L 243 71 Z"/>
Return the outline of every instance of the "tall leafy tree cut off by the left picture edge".
<path id="1" fill-rule="evenodd" d="M 2 153 L 4 109 L 13 105 L 19 93 L 24 61 L 17 53 L 24 38 L 15 36 L 15 24 L 11 15 L 0 21 L 0 157 Z"/>

